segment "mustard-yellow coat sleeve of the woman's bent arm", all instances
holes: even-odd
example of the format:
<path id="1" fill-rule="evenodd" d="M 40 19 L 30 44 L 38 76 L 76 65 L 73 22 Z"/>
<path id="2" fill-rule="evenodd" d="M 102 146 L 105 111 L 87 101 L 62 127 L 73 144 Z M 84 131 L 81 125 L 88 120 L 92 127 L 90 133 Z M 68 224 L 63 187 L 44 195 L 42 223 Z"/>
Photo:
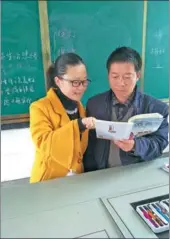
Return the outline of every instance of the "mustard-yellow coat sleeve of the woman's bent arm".
<path id="1" fill-rule="evenodd" d="M 56 120 L 59 118 L 56 117 Z M 77 120 L 72 120 L 65 126 L 54 130 L 48 112 L 33 103 L 30 106 L 30 130 L 36 150 L 43 152 L 47 160 L 51 159 L 70 169 L 74 147 L 78 147 L 75 143 L 80 144 Z"/>

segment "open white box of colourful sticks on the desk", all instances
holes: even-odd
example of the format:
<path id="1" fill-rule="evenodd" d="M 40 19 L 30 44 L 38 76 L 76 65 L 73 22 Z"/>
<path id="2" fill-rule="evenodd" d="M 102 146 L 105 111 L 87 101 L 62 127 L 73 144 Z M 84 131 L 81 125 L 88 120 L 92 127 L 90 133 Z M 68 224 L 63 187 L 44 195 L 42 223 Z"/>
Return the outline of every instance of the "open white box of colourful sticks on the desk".
<path id="1" fill-rule="evenodd" d="M 155 233 L 169 230 L 169 206 L 167 206 L 169 205 L 169 200 L 168 202 L 167 200 L 145 203 L 136 207 L 136 211 Z"/>

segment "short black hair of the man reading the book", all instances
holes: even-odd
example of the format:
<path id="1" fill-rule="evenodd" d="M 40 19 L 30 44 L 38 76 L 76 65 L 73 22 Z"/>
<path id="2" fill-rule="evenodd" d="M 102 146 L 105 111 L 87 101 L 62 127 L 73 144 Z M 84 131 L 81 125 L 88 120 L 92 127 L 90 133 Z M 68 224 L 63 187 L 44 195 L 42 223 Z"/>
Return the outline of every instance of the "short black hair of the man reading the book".
<path id="1" fill-rule="evenodd" d="M 140 54 L 130 47 L 119 47 L 114 50 L 107 59 L 106 67 L 109 72 L 110 66 L 114 62 L 127 62 L 134 64 L 135 71 L 139 72 L 142 68 Z"/>

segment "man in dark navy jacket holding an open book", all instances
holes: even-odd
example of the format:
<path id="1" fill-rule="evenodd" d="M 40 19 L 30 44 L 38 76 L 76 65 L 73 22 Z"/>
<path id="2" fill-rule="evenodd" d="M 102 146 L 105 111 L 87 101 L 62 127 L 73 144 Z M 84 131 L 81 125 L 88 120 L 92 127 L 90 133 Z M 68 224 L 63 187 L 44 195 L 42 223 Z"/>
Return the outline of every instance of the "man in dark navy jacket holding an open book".
<path id="1" fill-rule="evenodd" d="M 139 53 L 120 47 L 111 53 L 106 66 L 111 89 L 88 100 L 87 116 L 127 122 L 133 115 L 160 113 L 164 120 L 157 132 L 130 140 L 98 139 L 95 130 L 90 131 L 85 172 L 155 159 L 168 144 L 167 104 L 141 93 L 136 86 L 142 68 Z"/>

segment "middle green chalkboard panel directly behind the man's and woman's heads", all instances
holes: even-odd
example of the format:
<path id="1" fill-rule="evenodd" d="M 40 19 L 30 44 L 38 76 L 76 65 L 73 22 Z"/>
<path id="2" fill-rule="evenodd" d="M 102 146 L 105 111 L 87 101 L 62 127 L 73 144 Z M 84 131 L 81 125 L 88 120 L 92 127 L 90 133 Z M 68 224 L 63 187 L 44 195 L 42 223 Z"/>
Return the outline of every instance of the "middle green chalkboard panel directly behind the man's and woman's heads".
<path id="1" fill-rule="evenodd" d="M 73 51 L 87 65 L 83 103 L 108 89 L 105 65 L 116 47 L 142 52 L 143 1 L 49 1 L 48 16 L 52 60 Z"/>

